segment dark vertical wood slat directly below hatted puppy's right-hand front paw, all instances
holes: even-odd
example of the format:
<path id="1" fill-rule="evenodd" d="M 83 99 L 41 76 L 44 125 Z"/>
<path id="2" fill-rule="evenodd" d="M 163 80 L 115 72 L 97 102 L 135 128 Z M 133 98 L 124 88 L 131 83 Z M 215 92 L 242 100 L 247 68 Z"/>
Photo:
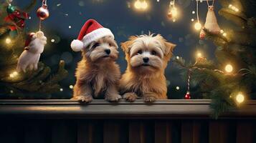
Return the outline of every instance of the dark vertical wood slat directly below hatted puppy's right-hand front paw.
<path id="1" fill-rule="evenodd" d="M 104 122 L 103 139 L 104 143 L 118 143 L 120 142 L 120 123 L 115 121 Z"/>

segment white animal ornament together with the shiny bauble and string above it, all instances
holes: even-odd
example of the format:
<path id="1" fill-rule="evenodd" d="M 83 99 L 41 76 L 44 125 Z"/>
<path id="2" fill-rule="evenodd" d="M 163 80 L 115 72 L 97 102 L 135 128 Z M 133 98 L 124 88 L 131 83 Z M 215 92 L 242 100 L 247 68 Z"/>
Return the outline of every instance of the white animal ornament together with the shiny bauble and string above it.
<path id="1" fill-rule="evenodd" d="M 17 71 L 25 72 L 27 68 L 30 70 L 37 70 L 38 61 L 44 51 L 45 44 L 47 44 L 47 37 L 44 36 L 44 32 L 41 31 L 42 21 L 49 16 L 46 2 L 46 0 L 42 0 L 42 6 L 37 10 L 37 16 L 39 17 L 39 31 L 29 34 L 24 51 L 19 56 L 19 61 L 16 67 Z"/>

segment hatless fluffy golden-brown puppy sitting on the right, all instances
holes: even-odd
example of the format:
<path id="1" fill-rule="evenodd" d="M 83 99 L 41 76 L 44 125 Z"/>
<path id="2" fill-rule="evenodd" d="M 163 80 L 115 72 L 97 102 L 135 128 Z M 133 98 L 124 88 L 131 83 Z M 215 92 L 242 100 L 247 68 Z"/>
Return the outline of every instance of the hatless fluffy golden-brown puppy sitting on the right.
<path id="1" fill-rule="evenodd" d="M 158 34 L 131 36 L 121 44 L 128 62 L 125 74 L 120 79 L 123 98 L 134 102 L 142 97 L 145 102 L 167 99 L 164 70 L 172 56 L 175 44 Z"/>

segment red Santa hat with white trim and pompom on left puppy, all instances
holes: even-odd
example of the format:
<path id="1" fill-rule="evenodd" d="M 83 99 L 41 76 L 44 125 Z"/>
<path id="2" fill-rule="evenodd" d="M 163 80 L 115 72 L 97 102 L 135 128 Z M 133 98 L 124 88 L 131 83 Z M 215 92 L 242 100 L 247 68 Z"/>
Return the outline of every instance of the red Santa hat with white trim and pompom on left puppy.
<path id="1" fill-rule="evenodd" d="M 89 19 L 82 26 L 77 39 L 71 42 L 71 48 L 73 51 L 81 51 L 91 42 L 103 38 L 103 36 L 112 36 L 114 38 L 110 29 L 104 28 L 94 19 Z"/>

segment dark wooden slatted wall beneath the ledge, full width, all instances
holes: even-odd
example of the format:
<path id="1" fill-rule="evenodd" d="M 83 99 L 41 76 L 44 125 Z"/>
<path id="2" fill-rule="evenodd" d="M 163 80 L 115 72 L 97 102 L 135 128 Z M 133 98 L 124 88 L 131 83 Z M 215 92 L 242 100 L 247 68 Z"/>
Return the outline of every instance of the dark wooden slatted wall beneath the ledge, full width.
<path id="1" fill-rule="evenodd" d="M 252 143 L 253 119 L 1 119 L 1 143 Z"/>

